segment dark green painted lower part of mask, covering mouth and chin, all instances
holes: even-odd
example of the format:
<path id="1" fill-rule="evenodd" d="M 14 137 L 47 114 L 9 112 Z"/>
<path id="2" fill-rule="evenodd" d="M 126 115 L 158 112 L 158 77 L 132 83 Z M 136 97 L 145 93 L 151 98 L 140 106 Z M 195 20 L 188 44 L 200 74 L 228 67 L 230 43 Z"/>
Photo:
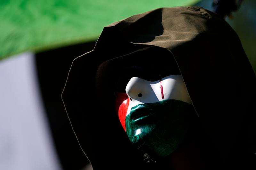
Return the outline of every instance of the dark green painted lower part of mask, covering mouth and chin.
<path id="1" fill-rule="evenodd" d="M 139 104 L 125 118 L 126 133 L 135 147 L 164 157 L 179 147 L 193 114 L 192 104 L 180 100 Z"/>

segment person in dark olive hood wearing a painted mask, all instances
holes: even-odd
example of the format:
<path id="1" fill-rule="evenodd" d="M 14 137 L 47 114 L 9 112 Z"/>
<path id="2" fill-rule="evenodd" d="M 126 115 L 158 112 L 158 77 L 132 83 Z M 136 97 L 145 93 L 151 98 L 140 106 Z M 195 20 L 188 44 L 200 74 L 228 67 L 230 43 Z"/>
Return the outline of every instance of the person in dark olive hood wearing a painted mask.
<path id="1" fill-rule="evenodd" d="M 94 170 L 252 169 L 255 87 L 223 18 L 171 7 L 104 27 L 62 99 Z"/>

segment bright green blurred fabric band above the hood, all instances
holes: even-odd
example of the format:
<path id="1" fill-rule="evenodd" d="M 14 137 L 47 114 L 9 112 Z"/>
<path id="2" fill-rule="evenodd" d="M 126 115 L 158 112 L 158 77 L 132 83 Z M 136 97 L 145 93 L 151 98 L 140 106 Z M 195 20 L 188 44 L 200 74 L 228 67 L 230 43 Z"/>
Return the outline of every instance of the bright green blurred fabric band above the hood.
<path id="1" fill-rule="evenodd" d="M 116 20 L 158 7 L 199 0 L 1 0 L 0 60 L 24 51 L 45 51 L 96 41 Z"/>

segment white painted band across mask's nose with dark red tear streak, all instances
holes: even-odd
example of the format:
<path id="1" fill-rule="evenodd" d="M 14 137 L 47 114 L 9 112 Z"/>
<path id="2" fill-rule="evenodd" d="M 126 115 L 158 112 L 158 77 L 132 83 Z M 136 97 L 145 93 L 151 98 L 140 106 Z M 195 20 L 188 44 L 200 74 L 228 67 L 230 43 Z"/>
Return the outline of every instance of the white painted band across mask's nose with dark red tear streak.
<path id="1" fill-rule="evenodd" d="M 161 81 L 147 81 L 132 77 L 126 85 L 125 91 L 130 98 L 127 113 L 130 112 L 131 107 L 138 104 L 155 103 L 162 100 L 174 99 L 192 104 L 181 75 L 169 75 L 162 78 Z"/>

